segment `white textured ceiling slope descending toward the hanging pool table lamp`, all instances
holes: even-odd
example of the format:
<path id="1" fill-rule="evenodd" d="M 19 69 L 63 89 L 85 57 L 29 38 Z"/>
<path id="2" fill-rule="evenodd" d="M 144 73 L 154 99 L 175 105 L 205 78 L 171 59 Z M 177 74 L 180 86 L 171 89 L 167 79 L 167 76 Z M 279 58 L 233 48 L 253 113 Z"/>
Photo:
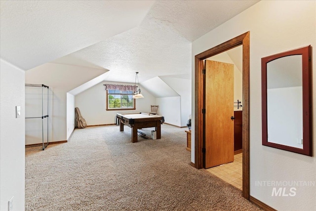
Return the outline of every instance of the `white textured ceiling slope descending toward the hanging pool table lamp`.
<path id="1" fill-rule="evenodd" d="M 105 81 L 139 82 L 158 75 L 191 73 L 191 42 L 171 30 L 128 30 L 105 41 L 67 55 L 54 63 L 76 64 L 82 60 L 110 70 Z"/>

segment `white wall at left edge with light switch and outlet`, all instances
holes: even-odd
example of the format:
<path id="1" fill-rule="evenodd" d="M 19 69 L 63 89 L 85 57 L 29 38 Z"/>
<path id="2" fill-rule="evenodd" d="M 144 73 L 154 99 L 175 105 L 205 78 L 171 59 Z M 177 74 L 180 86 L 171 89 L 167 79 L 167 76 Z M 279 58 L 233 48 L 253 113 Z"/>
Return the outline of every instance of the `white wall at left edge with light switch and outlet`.
<path id="1" fill-rule="evenodd" d="M 0 60 L 0 210 L 24 210 L 25 204 L 25 72 Z M 15 106 L 21 106 L 16 118 Z"/>

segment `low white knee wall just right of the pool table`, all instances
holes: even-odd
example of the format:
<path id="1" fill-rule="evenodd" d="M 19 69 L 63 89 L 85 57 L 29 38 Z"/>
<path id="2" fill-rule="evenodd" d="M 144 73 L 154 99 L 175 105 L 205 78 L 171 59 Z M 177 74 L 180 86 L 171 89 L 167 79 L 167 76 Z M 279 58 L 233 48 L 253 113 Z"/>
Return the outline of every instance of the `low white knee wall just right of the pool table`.
<path id="1" fill-rule="evenodd" d="M 156 99 L 158 115 L 164 117 L 164 122 L 181 127 L 181 97 L 159 97 Z"/>

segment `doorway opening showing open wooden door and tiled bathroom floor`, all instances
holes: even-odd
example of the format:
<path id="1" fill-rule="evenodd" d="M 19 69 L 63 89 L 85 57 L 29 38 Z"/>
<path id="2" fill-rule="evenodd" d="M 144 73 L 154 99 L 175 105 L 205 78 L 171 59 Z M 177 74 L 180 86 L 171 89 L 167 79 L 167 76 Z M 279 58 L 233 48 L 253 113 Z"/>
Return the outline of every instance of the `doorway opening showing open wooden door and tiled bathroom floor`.
<path id="1" fill-rule="evenodd" d="M 242 190 L 242 45 L 203 61 L 204 169 Z"/>

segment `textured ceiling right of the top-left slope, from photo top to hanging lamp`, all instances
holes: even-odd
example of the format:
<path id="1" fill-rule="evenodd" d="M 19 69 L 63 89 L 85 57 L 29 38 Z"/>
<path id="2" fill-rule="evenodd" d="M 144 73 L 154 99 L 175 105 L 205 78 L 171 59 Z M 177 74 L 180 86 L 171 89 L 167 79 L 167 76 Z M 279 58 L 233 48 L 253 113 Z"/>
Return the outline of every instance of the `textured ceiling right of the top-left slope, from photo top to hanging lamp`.
<path id="1" fill-rule="evenodd" d="M 80 61 L 110 70 L 106 81 L 140 83 L 156 76 L 188 74 L 191 43 L 258 1 L 159 0 L 142 23 L 53 62 Z"/>

